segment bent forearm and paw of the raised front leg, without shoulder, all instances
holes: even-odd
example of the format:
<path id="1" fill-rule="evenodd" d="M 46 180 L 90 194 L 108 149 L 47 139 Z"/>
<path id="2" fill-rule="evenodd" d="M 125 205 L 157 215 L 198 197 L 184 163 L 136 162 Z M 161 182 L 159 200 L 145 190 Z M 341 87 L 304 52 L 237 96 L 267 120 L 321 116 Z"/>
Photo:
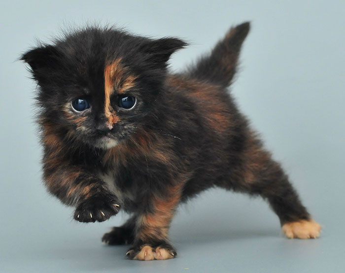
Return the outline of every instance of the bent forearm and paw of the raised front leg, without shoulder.
<path id="1" fill-rule="evenodd" d="M 76 206 L 75 220 L 103 222 L 119 212 L 120 200 L 102 179 L 81 167 L 53 159 L 48 155 L 45 157 L 43 171 L 46 186 L 63 203 Z"/>

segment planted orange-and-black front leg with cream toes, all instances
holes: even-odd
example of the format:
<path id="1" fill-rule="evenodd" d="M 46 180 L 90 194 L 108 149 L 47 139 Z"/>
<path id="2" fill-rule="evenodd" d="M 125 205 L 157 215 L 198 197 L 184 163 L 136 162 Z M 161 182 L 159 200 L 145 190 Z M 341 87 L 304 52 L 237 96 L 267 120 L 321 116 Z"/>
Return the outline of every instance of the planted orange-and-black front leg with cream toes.
<path id="1" fill-rule="evenodd" d="M 168 240 L 174 211 L 181 197 L 183 183 L 166 188 L 164 194 L 151 194 L 137 218 L 135 240 L 127 256 L 133 260 L 166 260 L 176 257 Z"/>

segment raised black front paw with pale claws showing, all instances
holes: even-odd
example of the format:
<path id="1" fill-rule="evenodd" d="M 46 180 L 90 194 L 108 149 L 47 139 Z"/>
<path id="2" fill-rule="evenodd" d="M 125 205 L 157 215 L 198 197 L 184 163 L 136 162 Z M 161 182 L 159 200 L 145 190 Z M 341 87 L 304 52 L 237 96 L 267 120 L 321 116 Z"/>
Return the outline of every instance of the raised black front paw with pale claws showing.
<path id="1" fill-rule="evenodd" d="M 79 222 L 103 222 L 120 210 L 116 197 L 99 194 L 80 202 L 75 209 L 73 218 Z"/>

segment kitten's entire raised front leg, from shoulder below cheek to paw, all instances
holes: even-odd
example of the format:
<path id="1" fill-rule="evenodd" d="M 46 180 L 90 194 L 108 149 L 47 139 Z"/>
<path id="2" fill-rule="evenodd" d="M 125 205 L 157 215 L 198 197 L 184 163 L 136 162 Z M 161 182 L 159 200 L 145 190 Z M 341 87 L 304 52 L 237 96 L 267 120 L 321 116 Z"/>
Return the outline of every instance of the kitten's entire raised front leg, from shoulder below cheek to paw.
<path id="1" fill-rule="evenodd" d="M 76 206 L 74 219 L 79 222 L 102 222 L 118 213 L 121 202 L 106 183 L 90 171 L 94 164 L 88 156 L 75 158 L 73 148 L 63 142 L 58 127 L 43 124 L 43 178 L 49 192 L 64 204 Z M 81 147 L 79 147 L 81 149 Z"/>

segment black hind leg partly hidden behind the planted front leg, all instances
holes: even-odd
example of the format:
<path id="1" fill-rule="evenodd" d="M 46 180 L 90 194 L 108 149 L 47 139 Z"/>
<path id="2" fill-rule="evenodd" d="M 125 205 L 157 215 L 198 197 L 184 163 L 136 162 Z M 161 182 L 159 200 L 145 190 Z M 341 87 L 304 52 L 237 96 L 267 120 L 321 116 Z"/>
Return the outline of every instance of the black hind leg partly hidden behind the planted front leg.
<path id="1" fill-rule="evenodd" d="M 137 217 L 134 215 L 121 227 L 113 227 L 110 232 L 104 234 L 102 241 L 109 245 L 132 244 L 136 219 Z"/>

